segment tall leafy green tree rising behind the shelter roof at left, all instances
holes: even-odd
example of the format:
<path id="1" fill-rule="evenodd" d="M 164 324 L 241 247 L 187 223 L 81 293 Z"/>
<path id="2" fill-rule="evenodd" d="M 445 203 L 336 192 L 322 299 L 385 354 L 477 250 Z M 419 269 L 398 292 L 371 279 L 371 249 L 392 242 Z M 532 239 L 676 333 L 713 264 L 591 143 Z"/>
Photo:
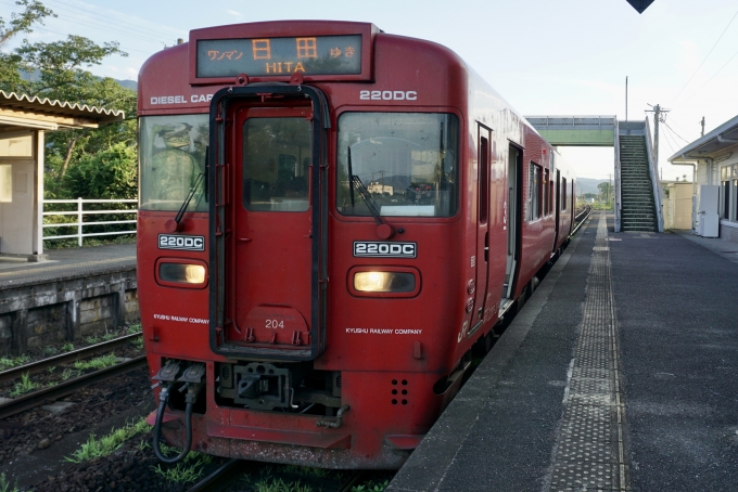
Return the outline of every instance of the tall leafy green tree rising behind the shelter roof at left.
<path id="1" fill-rule="evenodd" d="M 18 33 L 29 33 L 35 22 L 54 15 L 38 0 L 20 0 L 25 7 L 22 14 L 13 14 L 12 21 L 0 24 L 0 35 L 10 39 Z M 126 89 L 112 78 L 100 78 L 88 68 L 100 65 L 113 54 L 127 56 L 117 42 L 102 46 L 82 36 L 68 36 L 53 42 L 29 42 L 27 39 L 11 53 L 0 54 L 0 89 L 7 92 L 28 94 L 67 101 L 80 105 L 122 109 L 126 120 L 103 126 L 100 129 L 68 130 L 49 133 L 47 137 L 47 197 L 74 197 L 66 192 L 64 177 L 71 166 L 84 156 L 105 151 L 117 143 L 136 143 L 136 91 Z M 129 163 L 136 167 L 136 159 Z"/>

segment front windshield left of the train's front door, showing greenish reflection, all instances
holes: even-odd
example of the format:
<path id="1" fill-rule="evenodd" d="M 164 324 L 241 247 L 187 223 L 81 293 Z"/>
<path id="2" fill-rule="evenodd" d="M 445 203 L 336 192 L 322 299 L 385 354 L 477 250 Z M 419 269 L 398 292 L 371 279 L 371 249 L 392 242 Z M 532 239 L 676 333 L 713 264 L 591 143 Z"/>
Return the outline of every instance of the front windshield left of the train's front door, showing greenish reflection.
<path id="1" fill-rule="evenodd" d="M 207 211 L 204 193 L 208 115 L 145 116 L 139 122 L 141 209 L 177 211 L 198 184 L 188 211 Z"/>

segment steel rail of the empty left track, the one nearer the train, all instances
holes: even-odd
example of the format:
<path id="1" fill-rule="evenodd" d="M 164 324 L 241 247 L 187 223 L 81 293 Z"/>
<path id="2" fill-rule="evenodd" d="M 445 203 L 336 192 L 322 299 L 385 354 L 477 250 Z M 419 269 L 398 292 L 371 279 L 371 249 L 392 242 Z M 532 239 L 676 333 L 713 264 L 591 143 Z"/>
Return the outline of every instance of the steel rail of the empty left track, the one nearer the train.
<path id="1" fill-rule="evenodd" d="M 38 406 L 46 400 L 66 397 L 67 394 L 71 394 L 78 389 L 89 386 L 93 383 L 100 383 L 145 365 L 147 357 L 137 357 L 136 359 L 115 364 L 111 367 L 105 367 L 93 373 L 85 374 L 84 376 L 75 377 L 74 379 L 60 383 L 55 386 L 43 388 L 4 403 L 0 403 L 0 419 L 10 417 L 11 415 L 15 415 L 25 410 L 33 409 L 34 406 Z"/>

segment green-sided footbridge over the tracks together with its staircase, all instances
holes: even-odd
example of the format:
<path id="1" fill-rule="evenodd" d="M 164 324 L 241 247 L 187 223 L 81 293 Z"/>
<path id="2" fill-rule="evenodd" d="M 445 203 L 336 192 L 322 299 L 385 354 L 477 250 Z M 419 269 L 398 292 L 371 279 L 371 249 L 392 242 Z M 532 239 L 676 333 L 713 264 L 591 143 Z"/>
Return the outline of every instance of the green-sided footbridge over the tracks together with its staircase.
<path id="1" fill-rule="evenodd" d="M 648 118 L 526 116 L 551 145 L 615 150 L 615 231 L 663 232 L 661 189 Z"/>

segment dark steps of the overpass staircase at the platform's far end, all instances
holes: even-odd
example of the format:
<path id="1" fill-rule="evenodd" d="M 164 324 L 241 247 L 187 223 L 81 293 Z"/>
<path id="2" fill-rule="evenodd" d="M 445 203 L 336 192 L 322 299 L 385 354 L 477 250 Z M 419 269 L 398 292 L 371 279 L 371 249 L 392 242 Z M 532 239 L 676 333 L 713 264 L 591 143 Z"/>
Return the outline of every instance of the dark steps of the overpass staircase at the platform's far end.
<path id="1" fill-rule="evenodd" d="M 620 135 L 621 228 L 659 232 L 646 135 Z"/>

